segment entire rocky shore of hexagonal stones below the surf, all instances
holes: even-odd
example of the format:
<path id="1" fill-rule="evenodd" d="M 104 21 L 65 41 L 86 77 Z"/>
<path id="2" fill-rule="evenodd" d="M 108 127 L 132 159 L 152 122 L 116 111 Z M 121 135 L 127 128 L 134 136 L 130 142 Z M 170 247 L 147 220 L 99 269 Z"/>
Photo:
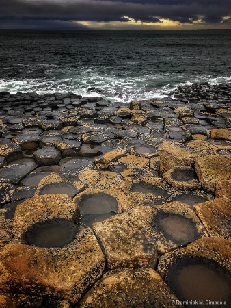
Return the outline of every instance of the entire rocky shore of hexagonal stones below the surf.
<path id="1" fill-rule="evenodd" d="M 0 92 L 0 307 L 231 307 L 231 86 L 171 95 Z"/>

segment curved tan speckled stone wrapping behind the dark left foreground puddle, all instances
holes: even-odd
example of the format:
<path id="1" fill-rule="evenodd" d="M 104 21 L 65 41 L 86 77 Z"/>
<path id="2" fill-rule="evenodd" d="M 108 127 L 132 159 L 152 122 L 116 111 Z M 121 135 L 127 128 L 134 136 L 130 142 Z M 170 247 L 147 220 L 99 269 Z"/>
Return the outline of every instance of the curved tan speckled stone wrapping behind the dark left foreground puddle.
<path id="1" fill-rule="evenodd" d="M 13 225 L 16 231 L 22 231 L 36 222 L 53 218 L 78 220 L 79 207 L 65 194 L 33 196 L 17 206 Z"/>

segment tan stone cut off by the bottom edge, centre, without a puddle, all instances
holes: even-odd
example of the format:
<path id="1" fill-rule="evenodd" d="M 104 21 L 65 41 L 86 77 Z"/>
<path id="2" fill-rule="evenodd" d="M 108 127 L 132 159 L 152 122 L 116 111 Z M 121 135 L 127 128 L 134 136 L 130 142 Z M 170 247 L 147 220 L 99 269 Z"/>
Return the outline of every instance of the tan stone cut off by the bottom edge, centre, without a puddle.
<path id="1" fill-rule="evenodd" d="M 112 270 L 83 297 L 78 308 L 176 308 L 169 287 L 151 268 Z"/>

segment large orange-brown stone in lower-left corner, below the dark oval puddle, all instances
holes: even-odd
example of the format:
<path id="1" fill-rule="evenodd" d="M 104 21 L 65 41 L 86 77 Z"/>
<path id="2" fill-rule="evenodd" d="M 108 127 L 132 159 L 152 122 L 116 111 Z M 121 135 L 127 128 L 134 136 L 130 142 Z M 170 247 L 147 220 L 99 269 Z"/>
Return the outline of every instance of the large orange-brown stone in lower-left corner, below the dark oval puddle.
<path id="1" fill-rule="evenodd" d="M 1 290 L 68 300 L 73 305 L 103 274 L 105 258 L 96 237 L 81 224 L 72 227 L 70 234 L 64 224 L 62 231 L 70 236 L 68 244 L 44 248 L 30 244 L 42 235 L 45 240 L 52 238 L 51 229 L 34 231 L 32 242 L 25 235 L 25 244 L 12 242 L 1 251 Z"/>

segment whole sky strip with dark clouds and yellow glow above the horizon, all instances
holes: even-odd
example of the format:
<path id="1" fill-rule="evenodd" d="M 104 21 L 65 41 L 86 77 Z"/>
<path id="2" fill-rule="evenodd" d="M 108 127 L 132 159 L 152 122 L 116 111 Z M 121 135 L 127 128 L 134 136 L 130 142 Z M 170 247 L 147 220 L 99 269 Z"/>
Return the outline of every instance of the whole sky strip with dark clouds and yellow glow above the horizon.
<path id="1" fill-rule="evenodd" d="M 0 29 L 231 29 L 231 0 L 0 1 Z"/>

